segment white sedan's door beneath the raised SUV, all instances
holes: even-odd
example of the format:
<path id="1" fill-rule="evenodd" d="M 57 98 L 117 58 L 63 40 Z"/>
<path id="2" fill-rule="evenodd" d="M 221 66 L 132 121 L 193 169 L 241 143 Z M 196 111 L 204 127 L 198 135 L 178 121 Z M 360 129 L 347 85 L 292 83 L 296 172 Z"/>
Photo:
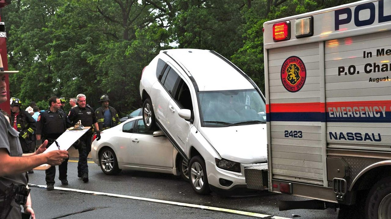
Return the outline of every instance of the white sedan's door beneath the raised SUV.
<path id="1" fill-rule="evenodd" d="M 142 119 L 136 120 L 136 127 L 131 136 L 135 164 L 140 167 L 172 169 L 174 146 L 166 136 L 154 137 L 154 131 L 145 129 Z"/>

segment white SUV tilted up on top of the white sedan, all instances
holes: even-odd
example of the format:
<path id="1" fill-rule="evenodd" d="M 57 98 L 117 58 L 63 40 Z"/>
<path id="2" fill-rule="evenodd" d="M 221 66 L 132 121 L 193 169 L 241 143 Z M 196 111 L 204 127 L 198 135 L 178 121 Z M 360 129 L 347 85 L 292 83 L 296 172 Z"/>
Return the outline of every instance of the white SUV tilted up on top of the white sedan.
<path id="1" fill-rule="evenodd" d="M 143 69 L 140 94 L 145 127 L 165 132 L 198 194 L 246 187 L 244 168 L 267 169 L 265 98 L 220 54 L 161 51 Z"/>

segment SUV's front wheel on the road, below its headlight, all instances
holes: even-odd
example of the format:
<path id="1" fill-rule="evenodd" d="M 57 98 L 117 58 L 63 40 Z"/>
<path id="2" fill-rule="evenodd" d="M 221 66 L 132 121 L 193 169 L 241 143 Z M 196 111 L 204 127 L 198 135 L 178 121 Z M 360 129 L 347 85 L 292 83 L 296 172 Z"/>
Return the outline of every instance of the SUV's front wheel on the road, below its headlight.
<path id="1" fill-rule="evenodd" d="M 189 167 L 191 168 L 190 183 L 193 190 L 200 195 L 209 194 L 210 188 L 203 158 L 201 156 L 194 156 L 189 162 Z"/>

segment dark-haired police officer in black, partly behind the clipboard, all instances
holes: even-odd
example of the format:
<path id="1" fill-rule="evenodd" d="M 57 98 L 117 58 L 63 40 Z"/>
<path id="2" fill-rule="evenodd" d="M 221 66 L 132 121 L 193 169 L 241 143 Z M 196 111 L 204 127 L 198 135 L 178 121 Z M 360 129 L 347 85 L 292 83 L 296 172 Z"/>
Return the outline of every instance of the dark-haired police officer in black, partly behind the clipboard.
<path id="1" fill-rule="evenodd" d="M 36 146 L 42 144 L 43 140 L 48 140 L 48 146 L 53 144 L 61 134 L 63 134 L 72 124 L 64 111 L 60 110 L 61 102 L 58 97 L 50 97 L 49 109 L 41 113 L 37 119 Z M 62 185 L 68 185 L 66 179 L 68 169 L 68 158 L 58 166 L 59 180 Z M 46 170 L 46 190 L 54 189 L 54 177 L 56 176 L 56 167 L 52 166 Z"/>

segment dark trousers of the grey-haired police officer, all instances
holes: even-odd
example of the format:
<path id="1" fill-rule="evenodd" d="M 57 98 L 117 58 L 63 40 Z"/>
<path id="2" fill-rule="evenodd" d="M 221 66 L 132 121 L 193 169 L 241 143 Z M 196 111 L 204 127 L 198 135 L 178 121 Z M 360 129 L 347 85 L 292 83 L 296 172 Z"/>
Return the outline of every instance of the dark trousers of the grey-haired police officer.
<path id="1" fill-rule="evenodd" d="M 77 163 L 77 174 L 88 174 L 87 156 L 91 151 L 92 133 L 86 133 L 79 138 L 79 162 Z"/>

